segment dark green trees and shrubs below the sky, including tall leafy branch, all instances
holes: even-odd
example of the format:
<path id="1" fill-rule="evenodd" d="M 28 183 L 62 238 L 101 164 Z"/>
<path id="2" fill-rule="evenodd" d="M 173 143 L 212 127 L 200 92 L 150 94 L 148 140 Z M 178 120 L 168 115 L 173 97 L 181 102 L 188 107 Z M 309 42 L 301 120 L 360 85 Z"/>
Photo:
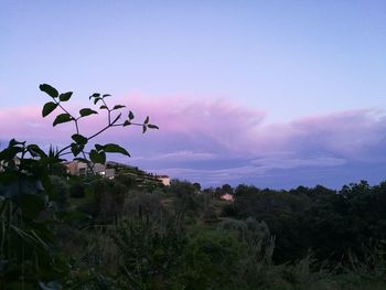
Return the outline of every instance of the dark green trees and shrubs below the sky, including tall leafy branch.
<path id="1" fill-rule="evenodd" d="M 54 100 L 43 116 L 71 97 L 41 89 Z M 114 108 L 100 107 L 107 129 L 118 125 Z M 94 136 L 77 122 L 87 114 L 96 111 L 58 115 L 76 125 L 65 149 L 84 162 L 127 154 L 110 143 L 86 151 Z M 0 289 L 386 289 L 386 182 L 339 192 L 143 186 L 132 172 L 69 176 L 65 152 L 15 140 L 0 151 Z"/>

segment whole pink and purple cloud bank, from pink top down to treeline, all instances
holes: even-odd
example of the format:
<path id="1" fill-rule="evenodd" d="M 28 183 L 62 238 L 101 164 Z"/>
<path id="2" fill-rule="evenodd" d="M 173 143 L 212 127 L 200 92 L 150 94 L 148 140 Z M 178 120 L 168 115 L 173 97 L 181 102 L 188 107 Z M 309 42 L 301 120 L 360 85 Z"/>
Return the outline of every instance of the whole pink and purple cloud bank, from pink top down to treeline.
<path id="1" fill-rule="evenodd" d="M 172 178 L 205 185 L 239 182 L 288 187 L 296 182 L 333 186 L 383 179 L 386 169 L 386 118 L 375 109 L 308 116 L 290 122 L 267 123 L 266 112 L 218 99 L 186 97 L 118 99 L 140 121 L 147 115 L 159 131 L 140 128 L 111 130 L 97 142 L 119 142 L 132 153 L 120 160 Z M 142 115 L 141 115 L 142 114 Z M 17 122 L 10 122 L 18 116 Z M 97 118 L 83 123 L 86 133 L 104 126 Z M 0 138 L 33 139 L 46 144 L 68 141 L 72 128 L 43 120 L 40 108 L 0 110 Z M 377 168 L 376 174 L 372 168 Z M 372 174 L 369 174 L 372 172 Z M 385 171 L 383 171 L 385 172 Z"/>

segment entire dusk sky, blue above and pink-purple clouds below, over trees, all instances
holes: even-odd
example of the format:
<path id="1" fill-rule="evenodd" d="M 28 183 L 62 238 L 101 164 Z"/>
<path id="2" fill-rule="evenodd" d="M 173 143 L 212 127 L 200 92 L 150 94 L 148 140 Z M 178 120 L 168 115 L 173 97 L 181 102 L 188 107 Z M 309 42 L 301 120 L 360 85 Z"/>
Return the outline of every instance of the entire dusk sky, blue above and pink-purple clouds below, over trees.
<path id="1" fill-rule="evenodd" d="M 111 94 L 160 130 L 114 128 L 109 159 L 171 178 L 339 189 L 386 176 L 385 1 L 0 1 L 0 149 L 63 147 L 42 118 Z M 93 107 L 94 108 L 94 107 Z M 58 114 L 58 111 L 55 111 Z M 92 135 L 100 112 L 81 123 Z"/>

